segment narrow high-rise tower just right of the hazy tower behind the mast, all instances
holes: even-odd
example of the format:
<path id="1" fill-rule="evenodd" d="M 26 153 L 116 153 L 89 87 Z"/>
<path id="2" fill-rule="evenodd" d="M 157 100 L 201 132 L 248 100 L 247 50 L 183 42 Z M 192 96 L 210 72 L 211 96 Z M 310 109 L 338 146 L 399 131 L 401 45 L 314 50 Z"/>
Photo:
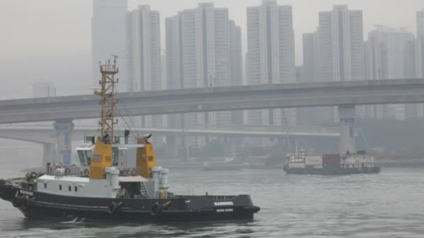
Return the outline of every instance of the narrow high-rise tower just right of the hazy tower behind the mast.
<path id="1" fill-rule="evenodd" d="M 150 6 L 127 13 L 126 51 L 129 92 L 162 89 L 160 15 Z M 137 127 L 162 127 L 162 116 L 134 118 Z"/>

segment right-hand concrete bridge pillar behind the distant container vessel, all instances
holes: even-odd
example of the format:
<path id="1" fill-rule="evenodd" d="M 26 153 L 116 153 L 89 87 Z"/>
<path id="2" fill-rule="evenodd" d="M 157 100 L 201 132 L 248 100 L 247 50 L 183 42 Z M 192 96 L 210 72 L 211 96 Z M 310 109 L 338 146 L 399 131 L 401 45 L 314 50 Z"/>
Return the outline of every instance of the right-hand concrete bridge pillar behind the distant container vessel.
<path id="1" fill-rule="evenodd" d="M 338 113 L 340 118 L 340 152 L 345 154 L 347 151 L 356 152 L 355 144 L 355 106 L 339 106 Z"/>

